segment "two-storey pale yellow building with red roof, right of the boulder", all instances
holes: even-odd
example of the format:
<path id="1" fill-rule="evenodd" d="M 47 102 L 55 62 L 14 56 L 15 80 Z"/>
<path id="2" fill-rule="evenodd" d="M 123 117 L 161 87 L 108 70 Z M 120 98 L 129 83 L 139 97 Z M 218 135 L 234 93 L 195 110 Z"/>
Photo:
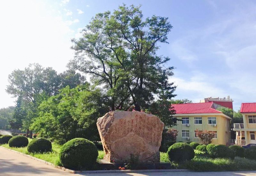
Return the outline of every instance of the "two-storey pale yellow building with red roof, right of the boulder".
<path id="1" fill-rule="evenodd" d="M 232 103 L 232 102 L 231 102 Z M 177 121 L 178 130 L 176 141 L 199 142 L 196 129 L 208 130 L 214 134 L 212 143 L 231 144 L 231 118 L 214 107 L 214 102 L 173 104 L 176 114 L 173 115 L 181 121 Z"/>

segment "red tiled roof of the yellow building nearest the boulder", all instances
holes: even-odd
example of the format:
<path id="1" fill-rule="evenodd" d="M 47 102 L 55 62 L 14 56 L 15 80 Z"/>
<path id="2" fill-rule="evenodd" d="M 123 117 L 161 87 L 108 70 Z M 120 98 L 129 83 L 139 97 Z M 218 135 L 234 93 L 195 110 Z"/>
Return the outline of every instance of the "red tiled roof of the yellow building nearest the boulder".
<path id="1" fill-rule="evenodd" d="M 207 103 L 187 103 L 173 104 L 176 114 L 205 114 L 205 113 L 222 113 L 212 108 L 213 102 Z"/>

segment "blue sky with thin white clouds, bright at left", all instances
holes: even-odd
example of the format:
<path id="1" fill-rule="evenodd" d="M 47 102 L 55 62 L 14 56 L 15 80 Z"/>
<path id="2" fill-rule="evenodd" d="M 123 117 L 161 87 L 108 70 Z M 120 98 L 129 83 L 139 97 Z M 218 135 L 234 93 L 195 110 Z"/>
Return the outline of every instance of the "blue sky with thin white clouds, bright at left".
<path id="1" fill-rule="evenodd" d="M 204 97 L 230 97 L 234 109 L 256 102 L 255 1 L 120 1 L 120 0 L 5 0 L 0 2 L 0 107 L 14 105 L 5 93 L 8 74 L 38 62 L 58 72 L 73 57 L 71 38 L 98 12 L 118 5 L 141 4 L 145 17 L 169 17 L 169 44 L 160 55 L 174 66 L 170 81 L 177 99 L 199 102 Z"/>

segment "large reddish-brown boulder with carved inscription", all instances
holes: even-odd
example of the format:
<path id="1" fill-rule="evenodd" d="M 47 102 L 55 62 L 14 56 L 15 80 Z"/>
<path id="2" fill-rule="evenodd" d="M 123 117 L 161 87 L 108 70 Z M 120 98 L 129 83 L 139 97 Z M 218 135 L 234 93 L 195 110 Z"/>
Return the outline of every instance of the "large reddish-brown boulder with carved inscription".
<path id="1" fill-rule="evenodd" d="M 124 162 L 131 154 L 141 163 L 159 163 L 164 123 L 152 114 L 112 111 L 97 121 L 104 159 Z"/>

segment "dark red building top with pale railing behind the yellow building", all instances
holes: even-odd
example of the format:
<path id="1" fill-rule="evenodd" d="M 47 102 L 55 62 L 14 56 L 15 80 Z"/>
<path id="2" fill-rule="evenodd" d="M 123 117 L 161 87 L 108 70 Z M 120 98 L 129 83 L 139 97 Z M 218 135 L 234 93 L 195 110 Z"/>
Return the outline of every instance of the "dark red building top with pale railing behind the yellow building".
<path id="1" fill-rule="evenodd" d="M 227 107 L 233 109 L 233 100 L 230 99 L 230 96 L 227 98 L 219 98 L 219 97 L 206 97 L 203 100 L 200 100 L 200 103 L 213 102 L 213 106 L 215 109 L 220 107 Z"/>

